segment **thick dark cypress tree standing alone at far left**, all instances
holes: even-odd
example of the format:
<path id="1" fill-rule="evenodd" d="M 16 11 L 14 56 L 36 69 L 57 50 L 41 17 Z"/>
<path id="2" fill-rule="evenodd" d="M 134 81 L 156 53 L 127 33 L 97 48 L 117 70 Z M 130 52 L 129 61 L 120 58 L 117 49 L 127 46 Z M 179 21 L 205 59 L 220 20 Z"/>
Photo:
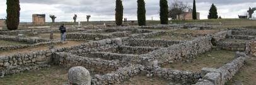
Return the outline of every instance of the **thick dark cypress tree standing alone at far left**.
<path id="1" fill-rule="evenodd" d="M 6 0 L 6 4 L 7 28 L 8 30 L 17 30 L 20 24 L 20 0 Z"/>

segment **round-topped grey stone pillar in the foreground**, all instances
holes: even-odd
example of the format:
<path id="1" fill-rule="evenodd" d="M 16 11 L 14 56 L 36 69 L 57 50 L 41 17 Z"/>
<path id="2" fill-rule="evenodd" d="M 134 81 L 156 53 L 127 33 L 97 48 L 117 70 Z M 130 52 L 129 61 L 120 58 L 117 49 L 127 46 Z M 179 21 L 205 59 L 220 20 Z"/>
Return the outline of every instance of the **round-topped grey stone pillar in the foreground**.
<path id="1" fill-rule="evenodd" d="M 84 67 L 72 67 L 69 69 L 68 76 L 71 85 L 91 85 L 90 72 Z"/>

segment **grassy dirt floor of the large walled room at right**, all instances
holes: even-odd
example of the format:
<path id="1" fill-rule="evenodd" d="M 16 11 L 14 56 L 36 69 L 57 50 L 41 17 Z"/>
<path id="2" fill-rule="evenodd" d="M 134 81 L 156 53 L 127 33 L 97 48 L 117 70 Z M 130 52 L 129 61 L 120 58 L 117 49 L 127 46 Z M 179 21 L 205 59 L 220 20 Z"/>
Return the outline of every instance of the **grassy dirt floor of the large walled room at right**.
<path id="1" fill-rule="evenodd" d="M 181 71 L 201 71 L 203 67 L 218 68 L 235 59 L 235 52 L 227 50 L 212 50 L 196 57 L 192 62 L 177 62 L 164 65 L 164 68 L 173 68 Z"/>

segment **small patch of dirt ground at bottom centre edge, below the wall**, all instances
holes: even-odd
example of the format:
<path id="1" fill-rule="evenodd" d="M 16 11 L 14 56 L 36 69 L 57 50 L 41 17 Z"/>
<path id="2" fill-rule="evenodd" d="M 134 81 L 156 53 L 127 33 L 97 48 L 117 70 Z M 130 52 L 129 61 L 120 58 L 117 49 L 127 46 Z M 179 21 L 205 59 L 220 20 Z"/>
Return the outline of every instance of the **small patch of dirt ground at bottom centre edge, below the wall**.
<path id="1" fill-rule="evenodd" d="M 119 85 L 168 85 L 169 82 L 160 77 L 134 76 Z"/>

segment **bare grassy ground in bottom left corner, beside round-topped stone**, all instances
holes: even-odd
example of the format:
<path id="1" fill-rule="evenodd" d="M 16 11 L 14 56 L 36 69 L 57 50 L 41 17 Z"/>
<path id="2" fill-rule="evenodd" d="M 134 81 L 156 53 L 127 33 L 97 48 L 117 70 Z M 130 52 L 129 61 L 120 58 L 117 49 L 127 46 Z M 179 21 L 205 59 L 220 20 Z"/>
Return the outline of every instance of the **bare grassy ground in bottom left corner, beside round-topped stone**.
<path id="1" fill-rule="evenodd" d="M 0 78 L 1 85 L 62 85 L 68 82 L 68 69 L 59 66 L 23 72 Z"/>

